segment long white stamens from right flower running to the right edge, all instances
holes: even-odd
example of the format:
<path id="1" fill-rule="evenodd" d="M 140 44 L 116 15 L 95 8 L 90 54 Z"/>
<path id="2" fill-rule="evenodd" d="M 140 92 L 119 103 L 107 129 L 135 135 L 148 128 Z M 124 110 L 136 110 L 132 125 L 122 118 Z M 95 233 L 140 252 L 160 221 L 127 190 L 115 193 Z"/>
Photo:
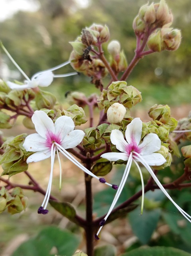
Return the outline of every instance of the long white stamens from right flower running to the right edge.
<path id="1" fill-rule="evenodd" d="M 142 156 L 140 156 L 140 154 L 138 153 L 134 153 L 137 155 L 134 156 L 134 158 L 136 158 L 139 162 L 141 162 L 145 168 L 148 170 L 148 172 L 150 173 L 150 175 L 152 176 L 152 178 L 154 179 L 154 181 L 156 182 L 156 184 L 159 186 L 160 190 L 165 194 L 165 196 L 174 204 L 174 206 L 179 210 L 179 212 L 181 212 L 181 214 L 189 221 L 191 222 L 191 216 L 189 214 L 187 214 L 187 212 L 185 212 L 178 204 L 176 204 L 174 202 L 174 200 L 171 198 L 171 196 L 169 196 L 169 194 L 167 193 L 167 191 L 165 190 L 165 188 L 163 188 L 162 184 L 159 182 L 157 176 L 154 174 L 153 170 L 150 168 L 150 166 L 146 163 L 146 161 L 144 160 L 144 158 L 142 158 Z"/>

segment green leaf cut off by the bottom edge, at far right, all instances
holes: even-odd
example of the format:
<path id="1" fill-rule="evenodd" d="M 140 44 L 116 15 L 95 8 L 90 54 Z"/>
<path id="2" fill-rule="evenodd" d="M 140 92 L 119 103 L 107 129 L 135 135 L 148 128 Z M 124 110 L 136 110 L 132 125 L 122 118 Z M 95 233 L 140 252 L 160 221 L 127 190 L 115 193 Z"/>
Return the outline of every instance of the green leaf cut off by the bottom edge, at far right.
<path id="1" fill-rule="evenodd" d="M 155 246 L 150 248 L 138 248 L 122 256 L 191 256 L 188 252 L 179 249 L 164 246 Z"/>

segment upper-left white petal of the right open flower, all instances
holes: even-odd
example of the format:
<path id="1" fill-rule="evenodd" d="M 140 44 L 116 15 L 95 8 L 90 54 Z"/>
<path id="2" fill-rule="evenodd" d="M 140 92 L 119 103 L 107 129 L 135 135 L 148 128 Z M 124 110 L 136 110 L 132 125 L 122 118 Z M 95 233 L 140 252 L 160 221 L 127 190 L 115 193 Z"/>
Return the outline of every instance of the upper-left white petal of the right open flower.
<path id="1" fill-rule="evenodd" d="M 126 146 L 128 143 L 125 141 L 124 136 L 119 130 L 112 130 L 110 136 L 112 144 L 116 145 L 116 148 L 121 152 L 126 152 Z"/>

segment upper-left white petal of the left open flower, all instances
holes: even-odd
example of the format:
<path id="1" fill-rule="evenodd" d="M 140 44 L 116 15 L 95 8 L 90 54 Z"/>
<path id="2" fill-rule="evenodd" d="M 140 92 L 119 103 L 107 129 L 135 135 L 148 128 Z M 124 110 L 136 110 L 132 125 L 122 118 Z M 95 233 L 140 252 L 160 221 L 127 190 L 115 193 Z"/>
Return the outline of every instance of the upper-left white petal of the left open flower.
<path id="1" fill-rule="evenodd" d="M 33 124 L 37 133 L 46 138 L 47 133 L 54 133 L 55 128 L 51 118 L 42 110 L 36 110 L 32 116 Z"/>

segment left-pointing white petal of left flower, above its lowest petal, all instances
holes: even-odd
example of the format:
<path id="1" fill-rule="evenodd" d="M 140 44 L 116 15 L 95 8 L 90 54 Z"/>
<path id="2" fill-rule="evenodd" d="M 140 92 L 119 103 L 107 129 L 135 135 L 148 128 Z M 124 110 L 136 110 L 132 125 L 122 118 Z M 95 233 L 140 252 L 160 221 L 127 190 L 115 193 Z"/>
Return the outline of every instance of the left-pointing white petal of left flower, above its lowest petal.
<path id="1" fill-rule="evenodd" d="M 47 149 L 46 139 L 37 133 L 30 134 L 26 137 L 24 144 L 26 151 L 37 152 Z"/>

